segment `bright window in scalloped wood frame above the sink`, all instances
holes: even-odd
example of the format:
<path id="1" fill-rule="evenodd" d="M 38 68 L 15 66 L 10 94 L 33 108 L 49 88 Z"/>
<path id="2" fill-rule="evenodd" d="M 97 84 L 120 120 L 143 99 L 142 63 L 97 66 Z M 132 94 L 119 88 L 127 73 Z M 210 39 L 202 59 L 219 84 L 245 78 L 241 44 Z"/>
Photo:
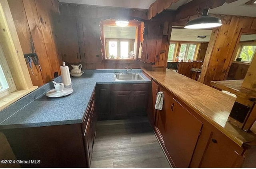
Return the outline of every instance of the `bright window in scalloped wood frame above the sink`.
<path id="1" fill-rule="evenodd" d="M 127 26 L 117 26 L 116 20 L 100 20 L 104 60 L 137 60 L 143 42 L 144 22 L 129 20 Z"/>

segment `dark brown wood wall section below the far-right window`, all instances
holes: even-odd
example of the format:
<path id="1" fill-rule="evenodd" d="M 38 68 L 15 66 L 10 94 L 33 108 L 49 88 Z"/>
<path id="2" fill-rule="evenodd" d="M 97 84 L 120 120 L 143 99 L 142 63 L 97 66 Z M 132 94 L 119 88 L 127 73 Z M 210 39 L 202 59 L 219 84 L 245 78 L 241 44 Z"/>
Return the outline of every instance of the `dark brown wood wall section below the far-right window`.
<path id="1" fill-rule="evenodd" d="M 227 80 L 241 80 L 244 79 L 249 69 L 250 64 L 242 62 L 233 62 L 228 71 Z"/>

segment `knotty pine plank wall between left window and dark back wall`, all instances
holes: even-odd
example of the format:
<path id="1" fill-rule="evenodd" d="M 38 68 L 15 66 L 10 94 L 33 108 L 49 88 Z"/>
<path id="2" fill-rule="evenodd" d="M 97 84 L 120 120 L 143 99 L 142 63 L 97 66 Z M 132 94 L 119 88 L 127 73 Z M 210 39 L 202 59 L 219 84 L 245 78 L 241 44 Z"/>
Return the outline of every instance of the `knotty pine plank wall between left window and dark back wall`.
<path id="1" fill-rule="evenodd" d="M 54 72 L 60 75 L 62 58 L 52 29 L 52 18 L 59 13 L 58 0 L 8 0 L 8 4 L 22 51 L 38 55 L 42 72 L 32 63 L 33 75 L 27 66 L 33 85 L 41 86 L 54 78 Z"/>

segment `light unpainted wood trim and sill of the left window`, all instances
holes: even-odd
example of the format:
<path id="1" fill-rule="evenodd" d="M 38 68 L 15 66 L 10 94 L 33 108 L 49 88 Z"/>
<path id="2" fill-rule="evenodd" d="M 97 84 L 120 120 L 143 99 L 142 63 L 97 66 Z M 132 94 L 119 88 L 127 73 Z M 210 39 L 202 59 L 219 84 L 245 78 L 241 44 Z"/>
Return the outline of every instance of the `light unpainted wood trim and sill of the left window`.
<path id="1" fill-rule="evenodd" d="M 0 25 L 0 42 L 17 89 L 0 98 L 0 110 L 2 110 L 24 95 L 34 91 L 38 86 L 32 85 L 12 14 L 6 0 L 0 1 Z"/>

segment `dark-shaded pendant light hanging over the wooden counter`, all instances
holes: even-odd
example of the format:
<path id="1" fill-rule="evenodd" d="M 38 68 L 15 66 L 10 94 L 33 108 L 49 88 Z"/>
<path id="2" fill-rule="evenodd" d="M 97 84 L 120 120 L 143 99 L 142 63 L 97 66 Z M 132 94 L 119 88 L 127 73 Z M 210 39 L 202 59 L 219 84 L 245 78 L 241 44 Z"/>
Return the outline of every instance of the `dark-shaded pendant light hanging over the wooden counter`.
<path id="1" fill-rule="evenodd" d="M 209 8 L 203 10 L 202 16 L 190 20 L 184 28 L 186 29 L 206 29 L 222 26 L 220 18 L 208 16 Z"/>

